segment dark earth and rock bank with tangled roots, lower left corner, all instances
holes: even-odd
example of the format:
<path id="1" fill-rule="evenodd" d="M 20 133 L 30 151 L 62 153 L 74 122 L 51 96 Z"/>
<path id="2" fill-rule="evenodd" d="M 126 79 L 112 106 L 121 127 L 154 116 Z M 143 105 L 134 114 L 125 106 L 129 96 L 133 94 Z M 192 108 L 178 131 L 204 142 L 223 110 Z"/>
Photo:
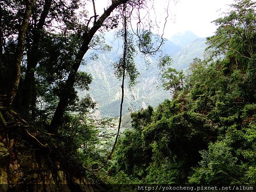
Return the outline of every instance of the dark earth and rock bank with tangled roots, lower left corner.
<path id="1" fill-rule="evenodd" d="M 6 123 L 0 122 L 0 192 L 92 191 L 86 175 L 68 169 L 17 113 L 1 114 Z"/>

